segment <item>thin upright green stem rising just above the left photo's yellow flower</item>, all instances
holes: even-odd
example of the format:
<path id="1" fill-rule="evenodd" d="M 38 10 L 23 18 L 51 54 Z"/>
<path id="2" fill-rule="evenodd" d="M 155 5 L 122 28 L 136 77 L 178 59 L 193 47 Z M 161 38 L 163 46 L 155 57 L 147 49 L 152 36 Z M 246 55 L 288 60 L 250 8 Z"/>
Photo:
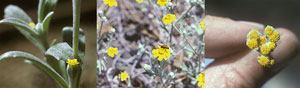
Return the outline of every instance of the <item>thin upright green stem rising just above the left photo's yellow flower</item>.
<path id="1" fill-rule="evenodd" d="M 80 3 L 81 0 L 73 0 L 73 53 L 75 59 L 78 59 Z"/>

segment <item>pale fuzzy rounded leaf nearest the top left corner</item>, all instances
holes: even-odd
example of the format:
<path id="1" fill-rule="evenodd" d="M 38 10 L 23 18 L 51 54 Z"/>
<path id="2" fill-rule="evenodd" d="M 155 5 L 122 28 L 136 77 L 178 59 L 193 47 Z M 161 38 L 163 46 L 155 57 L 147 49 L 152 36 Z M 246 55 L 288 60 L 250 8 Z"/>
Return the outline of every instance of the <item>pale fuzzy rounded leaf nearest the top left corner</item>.
<path id="1" fill-rule="evenodd" d="M 31 18 L 18 6 L 8 5 L 4 10 L 4 18 L 17 18 L 29 24 L 32 22 Z"/>

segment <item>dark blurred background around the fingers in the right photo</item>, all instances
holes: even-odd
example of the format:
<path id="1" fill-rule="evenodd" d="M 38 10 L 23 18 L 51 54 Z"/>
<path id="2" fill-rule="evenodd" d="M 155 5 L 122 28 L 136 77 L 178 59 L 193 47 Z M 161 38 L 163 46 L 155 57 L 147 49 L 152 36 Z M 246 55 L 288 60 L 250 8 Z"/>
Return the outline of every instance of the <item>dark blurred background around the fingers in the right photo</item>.
<path id="1" fill-rule="evenodd" d="M 300 0 L 207 0 L 206 15 L 284 27 L 300 39 Z M 300 55 L 262 88 L 299 88 Z"/>

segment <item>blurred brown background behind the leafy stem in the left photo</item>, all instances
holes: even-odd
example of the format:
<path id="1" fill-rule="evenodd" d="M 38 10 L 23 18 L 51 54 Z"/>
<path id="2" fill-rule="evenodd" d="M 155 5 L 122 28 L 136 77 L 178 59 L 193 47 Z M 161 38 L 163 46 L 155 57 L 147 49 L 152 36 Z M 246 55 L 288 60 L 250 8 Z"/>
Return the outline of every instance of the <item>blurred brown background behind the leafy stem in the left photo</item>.
<path id="1" fill-rule="evenodd" d="M 39 0 L 0 0 L 0 19 L 3 19 L 4 8 L 14 4 L 36 22 Z M 58 0 L 49 29 L 49 42 L 57 39 L 61 42 L 61 30 L 72 26 L 72 0 Z M 96 0 L 82 0 L 81 28 L 86 35 L 85 64 L 81 77 L 81 88 L 96 87 Z M 42 54 L 29 40 L 13 26 L 0 24 L 0 54 L 7 51 L 25 51 L 37 57 Z M 0 62 L 0 88 L 56 88 L 53 79 L 46 73 L 24 63 L 23 60 L 9 59 Z"/>

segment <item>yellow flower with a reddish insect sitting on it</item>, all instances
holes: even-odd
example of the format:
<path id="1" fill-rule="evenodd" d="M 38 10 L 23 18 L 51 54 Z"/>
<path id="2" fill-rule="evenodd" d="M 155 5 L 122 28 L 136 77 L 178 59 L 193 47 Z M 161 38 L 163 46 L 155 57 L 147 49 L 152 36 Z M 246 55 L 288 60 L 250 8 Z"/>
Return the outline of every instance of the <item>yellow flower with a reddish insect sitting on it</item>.
<path id="1" fill-rule="evenodd" d="M 161 46 L 158 46 L 157 49 L 152 50 L 153 57 L 157 58 L 158 61 L 161 61 L 162 59 L 168 60 L 170 57 L 171 53 L 168 48 L 162 48 Z"/>

